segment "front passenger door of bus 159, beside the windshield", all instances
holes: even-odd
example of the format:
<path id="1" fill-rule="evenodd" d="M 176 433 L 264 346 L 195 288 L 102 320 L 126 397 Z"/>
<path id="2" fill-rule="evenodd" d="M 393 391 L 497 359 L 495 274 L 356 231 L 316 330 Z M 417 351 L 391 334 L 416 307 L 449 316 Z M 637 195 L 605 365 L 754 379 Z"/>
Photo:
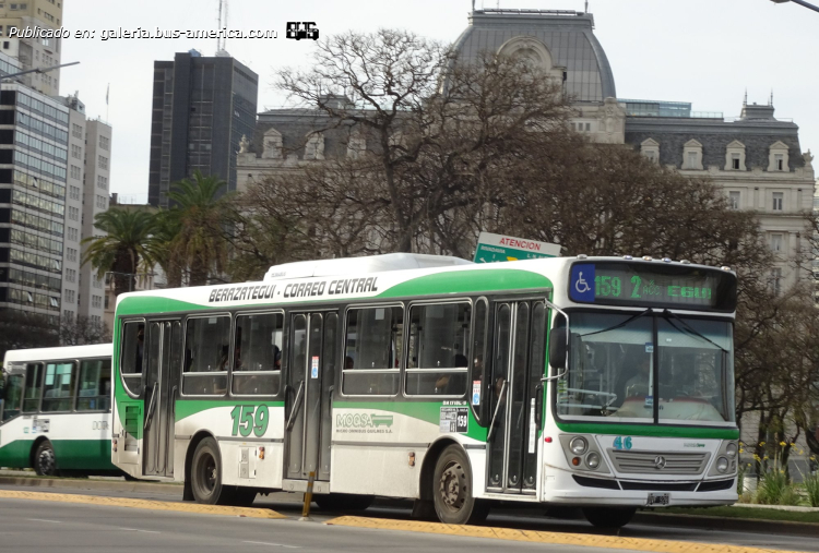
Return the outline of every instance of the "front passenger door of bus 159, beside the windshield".
<path id="1" fill-rule="evenodd" d="M 496 304 L 487 440 L 490 492 L 536 492 L 545 338 L 544 302 Z"/>

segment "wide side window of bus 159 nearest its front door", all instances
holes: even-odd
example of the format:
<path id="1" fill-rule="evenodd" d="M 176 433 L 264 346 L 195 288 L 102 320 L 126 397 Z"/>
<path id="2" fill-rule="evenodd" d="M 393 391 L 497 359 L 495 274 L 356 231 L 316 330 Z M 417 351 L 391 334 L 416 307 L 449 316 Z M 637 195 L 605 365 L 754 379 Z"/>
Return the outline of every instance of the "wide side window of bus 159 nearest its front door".
<path id="1" fill-rule="evenodd" d="M 468 370 L 472 305 L 447 303 L 410 309 L 406 394 L 463 396 Z"/>

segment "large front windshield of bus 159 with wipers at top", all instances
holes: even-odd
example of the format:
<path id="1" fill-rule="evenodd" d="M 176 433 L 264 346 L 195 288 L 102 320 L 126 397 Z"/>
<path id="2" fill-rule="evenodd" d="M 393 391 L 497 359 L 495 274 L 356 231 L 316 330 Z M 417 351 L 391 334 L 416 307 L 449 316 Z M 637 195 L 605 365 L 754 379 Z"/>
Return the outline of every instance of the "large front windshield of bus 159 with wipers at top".
<path id="1" fill-rule="evenodd" d="M 733 422 L 731 323 L 668 313 L 639 315 L 571 315 L 571 364 L 558 382 L 558 416 L 613 422 Z"/>

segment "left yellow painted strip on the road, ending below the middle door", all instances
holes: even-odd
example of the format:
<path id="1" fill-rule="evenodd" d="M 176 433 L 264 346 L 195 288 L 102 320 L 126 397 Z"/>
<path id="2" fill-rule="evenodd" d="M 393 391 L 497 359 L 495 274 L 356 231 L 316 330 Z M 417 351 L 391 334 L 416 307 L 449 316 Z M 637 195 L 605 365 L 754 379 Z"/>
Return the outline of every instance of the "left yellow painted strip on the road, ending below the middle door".
<path id="1" fill-rule="evenodd" d="M 0 498 L 50 501 L 58 503 L 81 503 L 108 507 L 130 507 L 150 510 L 175 510 L 177 513 L 197 513 L 201 515 L 223 515 L 248 518 L 287 518 L 275 510 L 254 507 L 227 507 L 222 505 L 201 505 L 199 503 L 174 503 L 131 497 L 105 497 L 102 495 L 79 495 L 69 493 L 22 492 L 0 490 Z"/>

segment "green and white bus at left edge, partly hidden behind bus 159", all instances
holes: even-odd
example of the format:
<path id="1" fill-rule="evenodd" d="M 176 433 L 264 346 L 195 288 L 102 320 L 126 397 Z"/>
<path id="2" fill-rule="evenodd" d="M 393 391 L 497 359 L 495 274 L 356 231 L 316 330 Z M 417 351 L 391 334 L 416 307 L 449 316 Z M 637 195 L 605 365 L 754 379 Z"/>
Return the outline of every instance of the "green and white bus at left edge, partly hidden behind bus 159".
<path id="1" fill-rule="evenodd" d="M 0 467 L 120 473 L 111 465 L 111 345 L 5 352 Z"/>

